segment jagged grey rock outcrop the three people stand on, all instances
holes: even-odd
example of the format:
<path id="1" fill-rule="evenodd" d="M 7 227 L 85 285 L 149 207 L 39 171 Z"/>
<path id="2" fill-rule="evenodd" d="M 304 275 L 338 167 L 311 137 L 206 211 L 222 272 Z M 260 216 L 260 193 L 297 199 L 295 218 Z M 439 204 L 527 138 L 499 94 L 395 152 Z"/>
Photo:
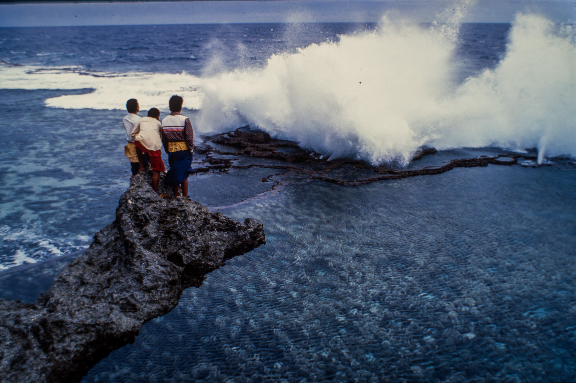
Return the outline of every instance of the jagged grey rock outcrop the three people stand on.
<path id="1" fill-rule="evenodd" d="M 35 304 L 0 299 L 0 381 L 77 382 L 134 342 L 184 289 L 235 255 L 266 243 L 263 225 L 238 223 L 198 202 L 159 198 L 141 173 L 116 220 L 56 277 Z"/>

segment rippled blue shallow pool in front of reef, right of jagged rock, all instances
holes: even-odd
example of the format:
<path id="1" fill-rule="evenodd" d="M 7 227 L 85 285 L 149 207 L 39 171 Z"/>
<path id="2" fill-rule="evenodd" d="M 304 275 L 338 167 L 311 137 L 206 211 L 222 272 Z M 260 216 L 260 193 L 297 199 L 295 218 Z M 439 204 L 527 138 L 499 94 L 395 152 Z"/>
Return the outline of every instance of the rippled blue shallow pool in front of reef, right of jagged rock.
<path id="1" fill-rule="evenodd" d="M 267 244 L 83 381 L 574 380 L 575 174 L 308 182 L 224 209 Z"/>

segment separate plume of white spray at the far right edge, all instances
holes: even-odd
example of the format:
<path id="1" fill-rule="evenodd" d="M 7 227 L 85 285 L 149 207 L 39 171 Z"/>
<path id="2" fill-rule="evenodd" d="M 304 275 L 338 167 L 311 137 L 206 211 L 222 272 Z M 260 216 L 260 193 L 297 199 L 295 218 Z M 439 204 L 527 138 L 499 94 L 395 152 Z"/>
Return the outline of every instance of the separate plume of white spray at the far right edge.
<path id="1" fill-rule="evenodd" d="M 543 18 L 517 17 L 505 58 L 449 95 L 431 144 L 535 147 L 539 163 L 576 155 L 575 30 L 556 32 Z"/>

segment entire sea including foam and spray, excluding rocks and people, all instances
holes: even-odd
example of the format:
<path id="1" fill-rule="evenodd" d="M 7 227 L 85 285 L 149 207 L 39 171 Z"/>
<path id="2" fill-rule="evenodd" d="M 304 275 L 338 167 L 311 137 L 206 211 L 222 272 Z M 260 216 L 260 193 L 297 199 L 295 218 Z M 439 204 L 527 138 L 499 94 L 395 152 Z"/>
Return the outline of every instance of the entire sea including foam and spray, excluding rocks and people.
<path id="1" fill-rule="evenodd" d="M 192 176 L 194 200 L 261 221 L 267 244 L 83 381 L 576 380 L 574 41 L 535 15 L 0 28 L 2 297 L 33 301 L 61 265 L 12 267 L 82 250 L 114 219 L 126 100 L 164 117 L 181 94 L 198 144 L 251 124 L 328 158 L 414 168 L 530 150 L 541 166 L 362 186 Z M 440 151 L 410 163 L 420 145 Z"/>

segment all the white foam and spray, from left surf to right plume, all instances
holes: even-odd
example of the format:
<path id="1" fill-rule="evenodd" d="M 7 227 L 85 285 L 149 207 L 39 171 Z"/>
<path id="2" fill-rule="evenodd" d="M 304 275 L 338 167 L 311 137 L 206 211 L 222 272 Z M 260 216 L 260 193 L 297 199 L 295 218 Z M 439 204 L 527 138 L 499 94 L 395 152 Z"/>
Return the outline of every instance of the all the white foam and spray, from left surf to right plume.
<path id="1" fill-rule="evenodd" d="M 575 156 L 573 27 L 517 16 L 498 66 L 460 84 L 454 82 L 456 33 L 384 19 L 378 32 L 274 55 L 259 70 L 208 78 L 93 77 L 4 67 L 0 83 L 10 89 L 95 89 L 48 99 L 55 108 L 120 109 L 135 97 L 141 109 L 164 111 L 170 95 L 181 94 L 186 108 L 201 109 L 197 131 L 249 123 L 331 158 L 407 163 L 421 145 L 536 147 L 539 162 Z"/>

